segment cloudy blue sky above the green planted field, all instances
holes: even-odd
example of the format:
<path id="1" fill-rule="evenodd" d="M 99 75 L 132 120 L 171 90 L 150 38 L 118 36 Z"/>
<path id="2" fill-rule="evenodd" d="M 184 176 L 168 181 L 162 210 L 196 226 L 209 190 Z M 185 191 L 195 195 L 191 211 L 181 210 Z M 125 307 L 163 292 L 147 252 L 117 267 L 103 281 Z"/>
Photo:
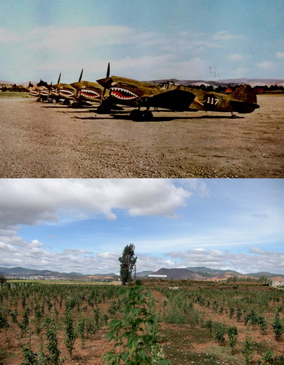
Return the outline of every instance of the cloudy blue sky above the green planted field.
<path id="1" fill-rule="evenodd" d="M 1 179 L 0 266 L 284 274 L 283 179 Z"/>

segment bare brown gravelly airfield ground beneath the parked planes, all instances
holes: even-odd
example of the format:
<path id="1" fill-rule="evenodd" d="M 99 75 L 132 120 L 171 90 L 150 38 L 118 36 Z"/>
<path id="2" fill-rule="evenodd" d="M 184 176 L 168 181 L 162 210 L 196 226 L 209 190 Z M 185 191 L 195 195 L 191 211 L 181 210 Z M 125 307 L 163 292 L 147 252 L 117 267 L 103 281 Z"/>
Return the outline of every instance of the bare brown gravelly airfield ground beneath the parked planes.
<path id="1" fill-rule="evenodd" d="M 230 113 L 98 115 L 0 99 L 0 177 L 283 177 L 284 96 Z"/>

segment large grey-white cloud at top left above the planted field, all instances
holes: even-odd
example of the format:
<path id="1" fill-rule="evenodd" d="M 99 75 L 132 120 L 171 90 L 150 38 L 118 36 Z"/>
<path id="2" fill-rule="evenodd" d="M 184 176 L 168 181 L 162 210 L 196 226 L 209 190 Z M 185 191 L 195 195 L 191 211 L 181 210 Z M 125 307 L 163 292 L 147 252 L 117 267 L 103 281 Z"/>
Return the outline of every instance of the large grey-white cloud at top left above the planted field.
<path id="1" fill-rule="evenodd" d="M 1 227 L 60 223 L 103 214 L 116 219 L 115 209 L 129 215 L 175 217 L 189 190 L 167 179 L 1 179 Z"/>

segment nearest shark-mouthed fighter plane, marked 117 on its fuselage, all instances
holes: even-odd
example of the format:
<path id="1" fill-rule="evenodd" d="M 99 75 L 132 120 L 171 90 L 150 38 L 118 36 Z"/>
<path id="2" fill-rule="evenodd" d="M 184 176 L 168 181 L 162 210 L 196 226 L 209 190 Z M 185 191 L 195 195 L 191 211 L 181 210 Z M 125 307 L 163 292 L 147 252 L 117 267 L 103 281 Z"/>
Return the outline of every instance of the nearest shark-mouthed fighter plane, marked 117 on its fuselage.
<path id="1" fill-rule="evenodd" d="M 163 85 L 149 84 L 130 78 L 111 76 L 97 80 L 102 87 L 109 89 L 109 97 L 102 100 L 99 113 L 107 113 L 114 105 L 137 107 L 130 112 L 133 120 L 152 120 L 153 108 L 172 111 L 227 111 L 230 113 L 252 113 L 258 109 L 256 94 L 250 85 L 241 85 L 229 95 L 184 87 L 170 82 Z M 140 108 L 146 108 L 141 111 Z M 232 118 L 236 118 L 232 114 Z"/>

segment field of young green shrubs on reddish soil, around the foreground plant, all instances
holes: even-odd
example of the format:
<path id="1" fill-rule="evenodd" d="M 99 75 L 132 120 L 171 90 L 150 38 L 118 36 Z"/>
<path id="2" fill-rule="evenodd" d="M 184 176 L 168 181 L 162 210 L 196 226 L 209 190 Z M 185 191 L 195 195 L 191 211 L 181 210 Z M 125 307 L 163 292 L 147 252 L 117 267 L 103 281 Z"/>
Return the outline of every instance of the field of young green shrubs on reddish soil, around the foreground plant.
<path id="1" fill-rule="evenodd" d="M 170 364 L 283 364 L 283 290 L 237 281 L 143 285 L 136 288 L 149 294 L 155 346 Z M 107 337 L 109 323 L 122 319 L 129 305 L 120 289 L 21 280 L 2 285 L 1 364 L 102 364 L 116 343 Z"/>

